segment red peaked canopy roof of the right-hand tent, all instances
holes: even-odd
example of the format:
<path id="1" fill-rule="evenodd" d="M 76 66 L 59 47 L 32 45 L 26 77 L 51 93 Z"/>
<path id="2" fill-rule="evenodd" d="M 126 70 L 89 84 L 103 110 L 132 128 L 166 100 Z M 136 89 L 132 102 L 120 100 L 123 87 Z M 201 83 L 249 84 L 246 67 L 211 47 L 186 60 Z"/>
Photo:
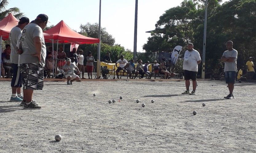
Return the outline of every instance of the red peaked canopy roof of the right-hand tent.
<path id="1" fill-rule="evenodd" d="M 59 43 L 78 43 L 78 44 L 89 44 L 89 43 L 99 43 L 100 40 L 97 38 L 90 38 L 81 35 L 73 31 L 69 26 L 61 20 L 53 28 L 45 31 L 45 33 L 53 35 L 54 40 L 58 40 Z"/>

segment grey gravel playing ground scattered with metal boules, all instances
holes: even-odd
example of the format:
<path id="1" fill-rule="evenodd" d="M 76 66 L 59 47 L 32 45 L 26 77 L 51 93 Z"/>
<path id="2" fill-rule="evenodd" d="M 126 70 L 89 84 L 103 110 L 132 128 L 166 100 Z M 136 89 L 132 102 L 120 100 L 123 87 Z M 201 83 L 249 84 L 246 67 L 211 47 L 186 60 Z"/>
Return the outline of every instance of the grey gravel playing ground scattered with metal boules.
<path id="1" fill-rule="evenodd" d="M 255 83 L 224 100 L 223 81 L 198 81 L 197 95 L 181 95 L 184 81 L 45 82 L 41 110 L 8 102 L 10 82 L 0 83 L 0 152 L 256 151 Z"/>

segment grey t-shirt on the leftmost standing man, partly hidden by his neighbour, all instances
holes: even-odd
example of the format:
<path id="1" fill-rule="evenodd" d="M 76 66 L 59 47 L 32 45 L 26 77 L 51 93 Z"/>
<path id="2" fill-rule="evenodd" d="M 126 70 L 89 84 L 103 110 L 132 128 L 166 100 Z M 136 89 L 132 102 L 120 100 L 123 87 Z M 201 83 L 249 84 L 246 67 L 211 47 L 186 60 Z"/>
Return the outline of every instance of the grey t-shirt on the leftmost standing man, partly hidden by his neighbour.
<path id="1" fill-rule="evenodd" d="M 21 34 L 22 30 L 19 27 L 14 27 L 10 31 L 9 39 L 10 39 L 10 46 L 11 46 L 11 63 L 18 64 L 19 61 L 19 54 L 17 54 L 16 45 L 18 42 L 18 37 Z"/>

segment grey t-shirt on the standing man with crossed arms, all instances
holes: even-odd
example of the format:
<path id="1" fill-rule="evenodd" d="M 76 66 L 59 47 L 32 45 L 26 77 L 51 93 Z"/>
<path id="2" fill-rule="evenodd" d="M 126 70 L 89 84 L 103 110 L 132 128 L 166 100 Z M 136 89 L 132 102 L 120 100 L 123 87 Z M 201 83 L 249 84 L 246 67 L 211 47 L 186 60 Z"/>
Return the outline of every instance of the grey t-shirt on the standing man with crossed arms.
<path id="1" fill-rule="evenodd" d="M 225 58 L 229 58 L 229 57 L 234 57 L 235 60 L 234 62 L 224 62 L 225 66 L 224 66 L 224 72 L 227 71 L 235 71 L 237 72 L 237 67 L 236 67 L 236 60 L 237 60 L 237 50 L 226 50 L 224 51 L 223 55 Z"/>

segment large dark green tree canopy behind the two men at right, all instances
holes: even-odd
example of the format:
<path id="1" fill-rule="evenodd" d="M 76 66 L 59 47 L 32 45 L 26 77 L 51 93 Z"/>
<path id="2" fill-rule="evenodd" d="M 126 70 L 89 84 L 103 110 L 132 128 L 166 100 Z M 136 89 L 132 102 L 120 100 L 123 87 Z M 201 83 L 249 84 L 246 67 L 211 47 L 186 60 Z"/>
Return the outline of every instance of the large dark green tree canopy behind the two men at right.
<path id="1" fill-rule="evenodd" d="M 204 0 L 184 0 L 180 6 L 170 8 L 160 16 L 156 29 L 143 49 L 147 53 L 170 51 L 176 45 L 194 43 L 202 55 L 204 29 Z M 220 4 L 221 0 L 208 0 L 206 70 L 219 71 L 219 61 L 226 50 L 228 40 L 234 42 L 238 50 L 238 67 L 244 65 L 249 56 L 256 57 L 256 1 L 231 0 Z M 182 55 L 182 53 L 181 53 Z M 200 70 L 199 70 L 200 73 Z"/>

